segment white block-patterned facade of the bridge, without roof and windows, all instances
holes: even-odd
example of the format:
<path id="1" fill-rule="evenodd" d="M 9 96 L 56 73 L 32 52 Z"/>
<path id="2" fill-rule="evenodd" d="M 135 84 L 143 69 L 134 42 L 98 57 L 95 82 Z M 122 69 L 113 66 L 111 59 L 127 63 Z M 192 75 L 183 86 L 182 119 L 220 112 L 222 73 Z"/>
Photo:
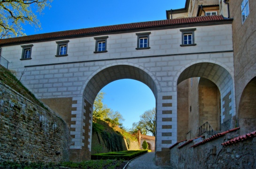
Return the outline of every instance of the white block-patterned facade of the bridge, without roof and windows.
<path id="1" fill-rule="evenodd" d="M 149 35 L 150 49 L 144 50 L 135 49 L 137 47 L 136 33 L 143 31 L 134 31 L 108 34 L 108 52 L 106 53 L 94 54 L 95 39 L 84 37 L 61 39 L 69 40 L 68 56 L 65 57 L 55 57 L 58 40 L 32 43 L 31 60 L 20 61 L 21 45 L 4 46 L 1 55 L 10 61 L 9 69 L 16 71 L 18 79 L 25 69 L 21 81 L 39 99 L 72 97 L 73 100 L 77 100 L 77 104 L 72 105 L 77 110 L 70 112 L 77 115 L 76 118 L 71 119 L 77 122 L 70 126 L 76 128 L 76 131 L 70 133 L 75 135 L 75 138 L 72 138 L 75 144 L 70 146 L 71 149 L 81 149 L 81 146 L 85 146 L 83 143 L 83 132 L 85 132 L 83 130 L 85 126 L 83 123 L 85 116 L 82 113 L 84 111 L 83 100 L 86 98 L 93 105 L 95 94 L 101 90 L 95 86 L 94 88 L 88 87 L 94 91 L 86 91 L 86 96 L 87 84 L 89 82 L 93 84 L 93 77 L 99 72 L 104 73 L 104 70 L 109 67 L 126 65 L 129 68 L 136 68 L 134 72 L 129 72 L 131 75 L 134 74 L 133 78 L 148 86 L 155 86 L 155 88 L 150 87 L 155 94 L 157 110 L 155 151 L 161 152 L 177 142 L 177 85 L 178 78 L 181 78 L 180 75 L 186 69 L 194 69 L 194 74 L 187 74 L 186 78 L 200 77 L 202 73 L 202 76 L 213 79 L 219 87 L 221 99 L 231 92 L 229 95 L 231 109 L 228 111 L 232 116 L 235 115 L 232 24 L 186 27 L 186 29 L 189 28 L 196 28 L 194 31 L 196 46 L 180 46 L 182 44 L 180 29 L 184 28 L 170 28 L 145 31 L 151 33 Z M 193 65 L 198 65 L 200 69 Z M 137 69 L 144 74 L 138 73 Z M 207 71 L 209 74 L 205 75 Z M 113 72 L 106 73 L 110 76 L 111 73 L 113 74 Z M 148 75 L 148 79 L 143 79 L 145 74 Z M 127 78 L 125 76 L 125 74 L 120 75 L 122 78 Z M 97 84 L 98 82 L 95 82 L 95 85 L 102 87 L 105 85 L 103 83 L 108 84 L 113 79 L 106 77 L 101 85 Z M 155 84 L 151 85 L 151 81 Z M 224 111 L 225 109 L 222 108 L 222 113 Z M 171 118 L 172 121 L 163 122 L 163 118 Z M 222 120 L 224 118 L 222 114 Z M 91 132 L 88 134 L 91 135 Z M 163 136 L 163 133 L 172 133 L 172 135 Z M 166 140 L 171 140 L 171 142 L 165 144 Z M 91 143 L 90 139 L 88 141 Z M 90 148 L 91 145 L 88 147 Z"/>

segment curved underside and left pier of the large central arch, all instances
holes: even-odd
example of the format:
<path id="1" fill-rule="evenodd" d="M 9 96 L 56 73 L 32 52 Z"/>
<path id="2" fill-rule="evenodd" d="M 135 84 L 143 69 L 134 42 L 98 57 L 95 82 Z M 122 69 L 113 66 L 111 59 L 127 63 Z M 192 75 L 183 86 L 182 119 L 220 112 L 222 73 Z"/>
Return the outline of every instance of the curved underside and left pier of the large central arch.
<path id="1" fill-rule="evenodd" d="M 134 79 L 146 84 L 157 97 L 155 81 L 144 70 L 131 65 L 115 65 L 100 70 L 90 78 L 82 96 L 81 111 L 76 112 L 76 132 L 71 137 L 74 145 L 70 156 L 90 159 L 93 102 L 100 90 L 107 84 L 120 79 Z M 79 135 L 80 134 L 80 135 Z"/>

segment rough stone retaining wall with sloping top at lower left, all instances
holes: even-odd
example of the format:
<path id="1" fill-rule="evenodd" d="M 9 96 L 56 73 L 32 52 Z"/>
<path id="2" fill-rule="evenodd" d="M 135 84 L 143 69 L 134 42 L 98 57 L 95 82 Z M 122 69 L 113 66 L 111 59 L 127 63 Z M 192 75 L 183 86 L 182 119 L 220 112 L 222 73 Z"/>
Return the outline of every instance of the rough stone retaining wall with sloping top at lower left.
<path id="1" fill-rule="evenodd" d="M 67 125 L 0 83 L 0 162 L 68 161 Z"/>

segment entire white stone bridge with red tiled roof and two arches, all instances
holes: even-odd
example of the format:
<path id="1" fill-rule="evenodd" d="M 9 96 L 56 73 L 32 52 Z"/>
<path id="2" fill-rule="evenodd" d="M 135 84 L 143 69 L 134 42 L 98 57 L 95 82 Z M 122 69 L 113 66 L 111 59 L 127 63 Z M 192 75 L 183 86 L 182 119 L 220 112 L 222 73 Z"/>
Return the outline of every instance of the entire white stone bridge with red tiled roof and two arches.
<path id="1" fill-rule="evenodd" d="M 1 55 L 16 77 L 70 125 L 70 160 L 90 158 L 93 101 L 107 84 L 124 78 L 146 84 L 156 100 L 157 165 L 170 162 L 177 142 L 177 85 L 204 77 L 220 91 L 221 123 L 231 125 L 235 112 L 232 20 L 222 16 L 174 19 L 53 32 L 0 41 Z M 171 23 L 176 21 L 177 23 Z M 194 31 L 193 45 L 184 45 Z M 140 34 L 147 48 L 138 48 Z M 95 52 L 95 39 L 106 38 L 107 51 Z M 56 55 L 67 43 L 67 54 Z M 22 59 L 24 46 L 31 58 Z M 96 43 L 97 45 L 97 43 Z M 55 56 L 56 55 L 56 56 Z M 225 125 L 228 126 L 228 125 Z"/>

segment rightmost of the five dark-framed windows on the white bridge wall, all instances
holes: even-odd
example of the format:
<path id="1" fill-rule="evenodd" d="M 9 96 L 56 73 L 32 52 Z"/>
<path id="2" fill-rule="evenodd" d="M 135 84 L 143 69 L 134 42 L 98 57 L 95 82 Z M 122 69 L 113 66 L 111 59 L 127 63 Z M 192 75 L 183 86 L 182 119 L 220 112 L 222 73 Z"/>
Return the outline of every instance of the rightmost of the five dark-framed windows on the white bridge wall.
<path id="1" fill-rule="evenodd" d="M 181 29 L 181 42 L 182 44 L 180 46 L 195 46 L 196 43 L 194 43 L 194 31 L 196 28 L 192 29 Z"/>

